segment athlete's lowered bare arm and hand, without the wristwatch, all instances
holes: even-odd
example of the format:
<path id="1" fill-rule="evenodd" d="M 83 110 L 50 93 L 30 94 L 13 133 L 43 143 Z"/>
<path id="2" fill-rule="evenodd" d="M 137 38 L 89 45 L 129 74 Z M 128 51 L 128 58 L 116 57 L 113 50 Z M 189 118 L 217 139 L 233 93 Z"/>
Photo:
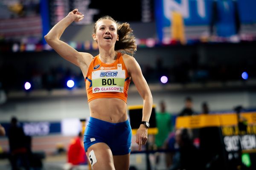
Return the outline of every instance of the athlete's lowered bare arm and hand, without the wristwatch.
<path id="1" fill-rule="evenodd" d="M 125 59 L 126 60 L 126 59 Z M 151 116 L 152 106 L 153 106 L 153 98 L 151 91 L 148 87 L 148 83 L 146 82 L 140 65 L 136 61 L 134 57 L 128 56 L 127 68 L 129 74 L 131 75 L 131 79 L 134 82 L 134 85 L 137 88 L 140 96 L 143 98 L 143 111 L 142 111 L 142 121 L 149 122 L 149 118 Z M 145 125 L 141 124 L 136 134 L 136 143 L 139 144 L 139 150 L 141 150 L 142 144 L 146 144 L 148 140 L 148 129 Z"/>

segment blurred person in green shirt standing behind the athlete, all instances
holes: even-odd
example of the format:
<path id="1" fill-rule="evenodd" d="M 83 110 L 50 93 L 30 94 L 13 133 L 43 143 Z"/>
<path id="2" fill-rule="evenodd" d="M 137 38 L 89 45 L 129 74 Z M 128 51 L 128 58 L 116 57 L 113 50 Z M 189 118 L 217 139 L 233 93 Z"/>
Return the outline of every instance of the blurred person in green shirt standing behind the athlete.
<path id="1" fill-rule="evenodd" d="M 156 121 L 157 121 L 157 128 L 158 133 L 155 136 L 155 144 L 157 145 L 157 149 L 167 149 L 165 144 L 169 133 L 172 130 L 172 121 L 171 121 L 171 114 L 166 112 L 166 104 L 164 101 L 160 102 L 160 112 L 156 113 Z M 159 163 L 159 153 L 156 153 L 156 163 Z M 166 157 L 166 155 L 165 155 Z M 167 165 L 167 159 L 166 159 Z"/>

